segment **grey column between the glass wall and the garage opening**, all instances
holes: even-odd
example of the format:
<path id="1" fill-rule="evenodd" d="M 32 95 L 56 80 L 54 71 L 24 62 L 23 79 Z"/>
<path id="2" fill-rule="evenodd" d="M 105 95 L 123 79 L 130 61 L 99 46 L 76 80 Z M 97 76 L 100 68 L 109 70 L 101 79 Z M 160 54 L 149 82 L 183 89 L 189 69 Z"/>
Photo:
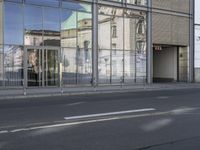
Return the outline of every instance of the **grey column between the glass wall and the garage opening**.
<path id="1" fill-rule="evenodd" d="M 147 11 L 147 83 L 153 83 L 153 44 L 152 44 L 152 0 L 148 0 Z"/>

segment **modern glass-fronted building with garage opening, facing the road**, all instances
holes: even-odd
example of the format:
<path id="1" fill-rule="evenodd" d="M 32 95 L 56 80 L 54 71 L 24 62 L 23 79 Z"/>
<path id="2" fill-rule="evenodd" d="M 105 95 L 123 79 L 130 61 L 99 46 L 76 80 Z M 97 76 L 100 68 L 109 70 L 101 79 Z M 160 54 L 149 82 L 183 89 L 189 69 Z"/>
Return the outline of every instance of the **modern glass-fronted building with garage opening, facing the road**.
<path id="1" fill-rule="evenodd" d="M 192 82 L 193 0 L 0 0 L 0 87 Z"/>

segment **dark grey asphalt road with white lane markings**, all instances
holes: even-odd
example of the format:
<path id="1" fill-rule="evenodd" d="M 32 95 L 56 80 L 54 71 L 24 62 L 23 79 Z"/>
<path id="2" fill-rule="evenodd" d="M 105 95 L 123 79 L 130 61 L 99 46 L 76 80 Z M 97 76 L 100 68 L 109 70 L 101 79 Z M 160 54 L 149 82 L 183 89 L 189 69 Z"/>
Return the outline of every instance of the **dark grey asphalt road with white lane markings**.
<path id="1" fill-rule="evenodd" d="M 0 101 L 0 150 L 199 150 L 200 89 Z"/>

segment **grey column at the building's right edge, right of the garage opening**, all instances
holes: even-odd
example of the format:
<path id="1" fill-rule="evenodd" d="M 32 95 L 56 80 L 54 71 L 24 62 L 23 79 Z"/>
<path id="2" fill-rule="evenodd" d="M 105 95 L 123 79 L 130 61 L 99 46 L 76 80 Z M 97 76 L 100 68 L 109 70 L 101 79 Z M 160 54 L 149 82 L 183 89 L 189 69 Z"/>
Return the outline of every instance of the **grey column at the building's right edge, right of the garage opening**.
<path id="1" fill-rule="evenodd" d="M 189 37 L 189 76 L 188 82 L 194 82 L 194 0 L 190 0 L 190 37 Z"/>

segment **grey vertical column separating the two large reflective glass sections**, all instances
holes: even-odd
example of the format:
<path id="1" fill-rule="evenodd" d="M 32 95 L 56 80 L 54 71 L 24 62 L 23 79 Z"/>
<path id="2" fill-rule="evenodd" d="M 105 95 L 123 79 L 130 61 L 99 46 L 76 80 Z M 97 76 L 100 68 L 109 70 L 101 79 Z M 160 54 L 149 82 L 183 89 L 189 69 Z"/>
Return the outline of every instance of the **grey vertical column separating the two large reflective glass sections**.
<path id="1" fill-rule="evenodd" d="M 93 1 L 92 5 L 92 83 L 98 85 L 98 0 Z"/>

